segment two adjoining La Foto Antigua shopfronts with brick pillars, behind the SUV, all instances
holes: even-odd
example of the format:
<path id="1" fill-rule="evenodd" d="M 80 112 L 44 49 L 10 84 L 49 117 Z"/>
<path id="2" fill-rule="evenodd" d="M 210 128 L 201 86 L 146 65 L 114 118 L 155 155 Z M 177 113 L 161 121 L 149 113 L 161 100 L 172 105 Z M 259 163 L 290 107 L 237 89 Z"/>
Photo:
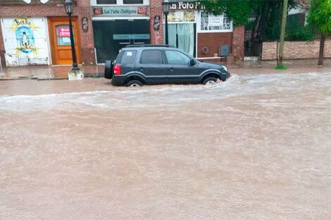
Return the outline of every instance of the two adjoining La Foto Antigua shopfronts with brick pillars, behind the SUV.
<path id="1" fill-rule="evenodd" d="M 170 0 L 169 44 L 199 60 L 232 62 L 244 56 L 244 27 L 199 11 L 195 0 Z M 91 0 L 97 63 L 127 44 L 163 44 L 162 0 Z"/>

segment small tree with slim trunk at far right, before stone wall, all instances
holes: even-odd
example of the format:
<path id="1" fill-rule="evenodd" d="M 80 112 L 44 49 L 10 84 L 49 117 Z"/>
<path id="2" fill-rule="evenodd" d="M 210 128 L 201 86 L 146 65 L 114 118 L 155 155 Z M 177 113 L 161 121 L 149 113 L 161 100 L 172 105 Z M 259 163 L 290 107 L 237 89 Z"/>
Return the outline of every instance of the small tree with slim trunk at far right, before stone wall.
<path id="1" fill-rule="evenodd" d="M 318 65 L 323 65 L 325 35 L 331 33 L 331 0 L 312 0 L 308 23 L 320 30 Z"/>

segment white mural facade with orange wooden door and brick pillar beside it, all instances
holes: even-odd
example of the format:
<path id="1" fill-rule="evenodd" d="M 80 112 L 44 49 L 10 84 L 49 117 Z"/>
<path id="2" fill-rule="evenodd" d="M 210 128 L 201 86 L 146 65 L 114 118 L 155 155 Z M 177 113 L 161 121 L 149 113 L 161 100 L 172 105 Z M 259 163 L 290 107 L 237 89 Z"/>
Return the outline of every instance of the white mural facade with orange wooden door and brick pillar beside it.
<path id="1" fill-rule="evenodd" d="M 64 1 L 0 1 L 0 56 L 6 66 L 72 63 Z M 75 1 L 73 31 L 77 61 L 95 64 L 89 0 Z"/>

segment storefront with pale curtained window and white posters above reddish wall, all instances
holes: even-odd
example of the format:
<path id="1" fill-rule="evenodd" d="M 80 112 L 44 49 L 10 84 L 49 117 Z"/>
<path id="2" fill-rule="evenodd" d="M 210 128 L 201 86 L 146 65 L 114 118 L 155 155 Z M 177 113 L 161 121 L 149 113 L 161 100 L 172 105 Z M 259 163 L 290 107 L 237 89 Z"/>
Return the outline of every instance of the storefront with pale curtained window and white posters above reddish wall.
<path id="1" fill-rule="evenodd" d="M 168 41 L 200 60 L 223 61 L 230 54 L 232 21 L 198 10 L 199 3 L 175 2 L 168 15 Z M 163 23 L 163 32 L 165 27 Z"/>

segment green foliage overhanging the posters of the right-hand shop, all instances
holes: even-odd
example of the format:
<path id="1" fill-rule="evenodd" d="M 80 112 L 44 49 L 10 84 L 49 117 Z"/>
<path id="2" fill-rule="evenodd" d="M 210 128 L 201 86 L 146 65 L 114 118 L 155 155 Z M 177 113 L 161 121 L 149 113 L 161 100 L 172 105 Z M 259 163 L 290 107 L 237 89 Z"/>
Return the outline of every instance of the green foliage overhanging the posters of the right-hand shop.
<path id="1" fill-rule="evenodd" d="M 246 25 L 251 13 L 251 4 L 249 0 L 232 0 L 232 1 L 208 1 L 201 0 L 201 6 L 205 11 L 220 15 L 225 13 L 228 18 L 233 20 L 233 26 Z"/>

